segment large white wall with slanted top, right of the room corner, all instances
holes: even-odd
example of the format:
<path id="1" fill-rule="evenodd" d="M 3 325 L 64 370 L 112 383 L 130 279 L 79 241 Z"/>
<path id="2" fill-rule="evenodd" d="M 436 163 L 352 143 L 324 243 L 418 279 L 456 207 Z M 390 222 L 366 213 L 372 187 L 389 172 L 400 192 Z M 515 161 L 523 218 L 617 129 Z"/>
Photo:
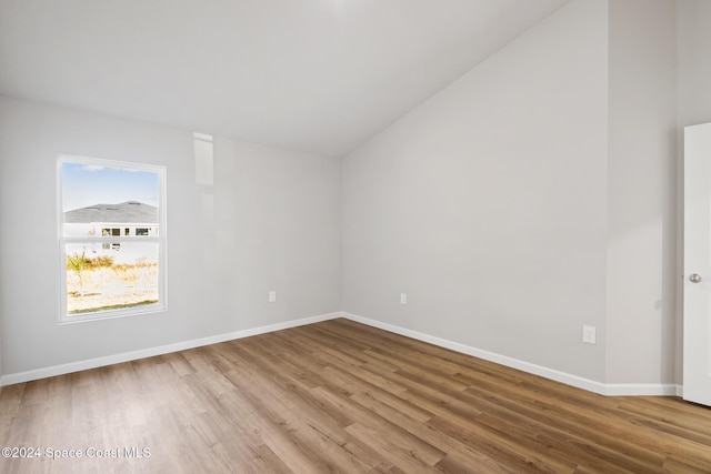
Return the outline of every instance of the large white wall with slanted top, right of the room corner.
<path id="1" fill-rule="evenodd" d="M 604 380 L 607 33 L 573 1 L 343 160 L 344 311 Z"/>

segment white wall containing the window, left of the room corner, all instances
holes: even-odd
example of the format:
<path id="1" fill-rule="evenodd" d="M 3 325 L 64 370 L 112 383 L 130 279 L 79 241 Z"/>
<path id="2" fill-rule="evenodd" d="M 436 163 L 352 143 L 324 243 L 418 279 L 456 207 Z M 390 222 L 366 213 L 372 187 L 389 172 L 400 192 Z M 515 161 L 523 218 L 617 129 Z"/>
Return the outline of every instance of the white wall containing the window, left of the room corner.
<path id="1" fill-rule="evenodd" d="M 191 131 L 9 98 L 0 125 L 3 374 L 340 310 L 338 160 L 216 138 L 199 185 Z M 57 324 L 58 153 L 167 165 L 167 312 Z"/>

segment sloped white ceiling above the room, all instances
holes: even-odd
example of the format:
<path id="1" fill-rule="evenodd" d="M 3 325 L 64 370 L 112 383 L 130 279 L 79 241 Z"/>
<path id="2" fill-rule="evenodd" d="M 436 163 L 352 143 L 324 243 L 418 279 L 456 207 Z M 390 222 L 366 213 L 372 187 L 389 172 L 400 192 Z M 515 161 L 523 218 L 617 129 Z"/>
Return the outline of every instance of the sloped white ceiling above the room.
<path id="1" fill-rule="evenodd" d="M 341 157 L 568 0 L 0 0 L 0 94 Z"/>

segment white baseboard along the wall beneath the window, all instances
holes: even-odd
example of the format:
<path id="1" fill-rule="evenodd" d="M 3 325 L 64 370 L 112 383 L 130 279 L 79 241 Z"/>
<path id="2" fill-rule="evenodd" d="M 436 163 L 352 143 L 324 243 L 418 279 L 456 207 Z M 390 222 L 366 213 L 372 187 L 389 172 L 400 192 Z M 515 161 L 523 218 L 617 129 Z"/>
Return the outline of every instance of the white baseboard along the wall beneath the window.
<path id="1" fill-rule="evenodd" d="M 63 375 L 72 372 L 86 371 L 89 369 L 103 367 L 106 365 L 120 364 L 122 362 L 130 362 L 139 359 L 152 357 L 154 355 L 169 354 L 171 352 L 184 351 L 188 349 L 201 347 L 203 345 L 249 337 L 251 335 L 287 330 L 290 327 L 302 326 L 304 324 L 319 323 L 321 321 L 328 321 L 341 316 L 341 313 L 322 314 L 320 316 L 303 317 L 300 320 L 287 321 L 283 323 L 268 324 L 266 326 L 259 326 L 249 330 L 234 331 L 208 337 L 194 339 L 191 341 L 178 342 L 176 344 L 161 345 L 158 347 L 143 349 L 140 351 L 124 352 L 121 354 L 107 355 L 103 357 L 90 359 L 87 361 L 71 362 L 69 364 L 62 365 L 53 365 L 51 367 L 18 372 L 14 374 L 6 374 L 0 377 L 0 387 L 4 385 L 12 385 L 16 383 L 51 377 L 54 375 Z"/>

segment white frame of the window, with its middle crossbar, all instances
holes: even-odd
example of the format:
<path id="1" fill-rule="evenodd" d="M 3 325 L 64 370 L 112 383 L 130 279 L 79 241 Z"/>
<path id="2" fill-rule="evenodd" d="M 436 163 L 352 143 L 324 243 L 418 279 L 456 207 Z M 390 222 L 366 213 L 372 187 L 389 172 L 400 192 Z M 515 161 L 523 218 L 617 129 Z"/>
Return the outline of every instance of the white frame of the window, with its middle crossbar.
<path id="1" fill-rule="evenodd" d="M 101 232 L 92 236 L 68 236 L 64 235 L 64 210 L 63 210 L 63 163 L 78 163 L 88 165 L 99 165 L 107 168 L 118 168 L 134 171 L 150 171 L 158 173 L 160 180 L 159 190 L 159 232 L 158 235 L 141 235 L 141 242 L 154 242 L 158 244 L 158 302 L 150 304 L 141 304 L 137 306 L 101 310 L 83 313 L 67 312 L 67 244 L 92 242 L 101 246 L 103 243 L 121 243 L 137 239 L 133 235 L 103 236 Z M 140 314 L 150 314 L 164 312 L 168 310 L 168 265 L 167 265 L 167 181 L 166 167 L 157 164 L 143 164 L 128 161 L 106 160 L 100 158 L 77 157 L 71 154 L 59 154 L 57 158 L 57 229 L 59 243 L 59 280 L 60 280 L 60 313 L 59 323 L 77 323 L 86 321 L 101 321 L 112 317 L 134 316 Z"/>

